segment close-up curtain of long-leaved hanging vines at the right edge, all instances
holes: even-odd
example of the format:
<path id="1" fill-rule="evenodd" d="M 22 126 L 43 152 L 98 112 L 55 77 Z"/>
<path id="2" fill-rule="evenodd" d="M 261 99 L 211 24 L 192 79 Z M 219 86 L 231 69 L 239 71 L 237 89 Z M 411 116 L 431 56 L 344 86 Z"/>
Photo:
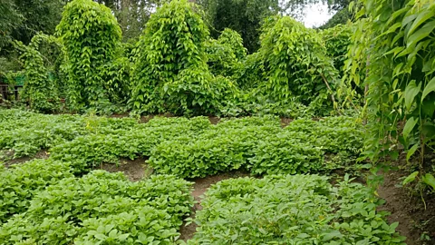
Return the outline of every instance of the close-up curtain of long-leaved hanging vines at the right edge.
<path id="1" fill-rule="evenodd" d="M 432 151 L 434 9 L 432 1 L 362 1 L 348 73 L 367 92 L 367 155 L 374 162 L 398 159 L 402 146 L 407 161 L 420 152 L 422 171 L 425 152 Z M 432 175 L 424 177 L 435 187 Z"/>

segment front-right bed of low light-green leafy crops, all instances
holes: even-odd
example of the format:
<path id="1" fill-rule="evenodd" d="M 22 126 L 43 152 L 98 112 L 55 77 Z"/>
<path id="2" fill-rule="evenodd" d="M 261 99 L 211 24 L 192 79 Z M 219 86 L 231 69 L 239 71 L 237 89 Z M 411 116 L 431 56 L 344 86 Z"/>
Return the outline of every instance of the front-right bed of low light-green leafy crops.
<path id="1" fill-rule="evenodd" d="M 405 244 L 369 189 L 317 175 L 220 181 L 198 211 L 189 244 Z"/>

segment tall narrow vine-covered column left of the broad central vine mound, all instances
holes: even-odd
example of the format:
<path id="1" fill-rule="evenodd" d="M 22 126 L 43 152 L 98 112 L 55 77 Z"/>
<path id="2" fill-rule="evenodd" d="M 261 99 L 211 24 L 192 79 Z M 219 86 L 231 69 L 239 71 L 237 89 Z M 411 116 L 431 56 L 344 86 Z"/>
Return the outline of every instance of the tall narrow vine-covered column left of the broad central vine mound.
<path id="1" fill-rule="evenodd" d="M 115 58 L 121 28 L 111 9 L 92 0 L 73 0 L 57 26 L 66 51 L 68 103 L 72 108 L 107 103 L 105 64 Z"/>

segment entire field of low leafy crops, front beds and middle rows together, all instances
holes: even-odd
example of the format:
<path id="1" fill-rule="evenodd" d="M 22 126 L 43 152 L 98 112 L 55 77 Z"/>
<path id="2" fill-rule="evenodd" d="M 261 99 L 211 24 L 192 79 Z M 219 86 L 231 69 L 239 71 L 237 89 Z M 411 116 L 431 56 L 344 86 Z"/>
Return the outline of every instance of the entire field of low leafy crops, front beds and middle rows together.
<path id="1" fill-rule="evenodd" d="M 402 244 L 369 188 L 316 175 L 357 170 L 363 132 L 350 117 L 284 126 L 275 117 L 138 123 L 0 110 L 5 160 L 49 154 L 0 170 L 0 243 Z M 131 182 L 95 170 L 122 157 L 149 158 L 154 173 Z M 179 240 L 194 205 L 189 180 L 231 170 L 262 178 L 212 186 L 195 236 Z"/>

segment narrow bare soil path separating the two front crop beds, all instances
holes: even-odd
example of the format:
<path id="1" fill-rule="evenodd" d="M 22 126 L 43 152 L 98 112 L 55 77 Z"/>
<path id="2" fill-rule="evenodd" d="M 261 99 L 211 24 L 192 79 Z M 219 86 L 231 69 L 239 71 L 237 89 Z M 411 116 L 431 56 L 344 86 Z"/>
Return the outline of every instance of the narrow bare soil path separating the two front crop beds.
<path id="1" fill-rule="evenodd" d="M 218 181 L 247 177 L 247 176 L 249 176 L 249 173 L 244 171 L 230 171 L 226 173 L 219 173 L 214 176 L 208 176 L 206 178 L 196 178 L 193 180 L 189 180 L 195 183 L 193 185 L 192 195 L 195 201 L 197 202 L 195 203 L 192 214 L 190 215 L 189 218 L 195 219 L 196 212 L 202 210 L 201 201 L 203 199 L 203 195 L 212 184 L 216 184 Z M 179 230 L 179 232 L 181 233 L 179 239 L 184 241 L 191 239 L 193 237 L 193 234 L 196 232 L 196 230 L 197 230 L 197 224 L 195 223 L 191 223 L 189 224 L 189 226 L 185 226 L 185 224 L 183 224 Z"/>

